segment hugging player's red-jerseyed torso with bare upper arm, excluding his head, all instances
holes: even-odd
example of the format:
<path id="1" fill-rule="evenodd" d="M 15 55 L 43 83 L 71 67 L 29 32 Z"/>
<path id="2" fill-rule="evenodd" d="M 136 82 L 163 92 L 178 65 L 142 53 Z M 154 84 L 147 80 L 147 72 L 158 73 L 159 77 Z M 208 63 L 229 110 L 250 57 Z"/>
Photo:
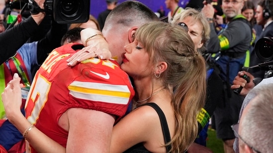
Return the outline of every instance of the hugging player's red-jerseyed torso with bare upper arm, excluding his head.
<path id="1" fill-rule="evenodd" d="M 106 152 L 134 91 L 114 60 L 91 58 L 68 67 L 66 60 L 82 47 L 69 44 L 49 54 L 32 83 L 26 118 L 69 151 Z M 81 147 L 87 142 L 92 145 Z"/>

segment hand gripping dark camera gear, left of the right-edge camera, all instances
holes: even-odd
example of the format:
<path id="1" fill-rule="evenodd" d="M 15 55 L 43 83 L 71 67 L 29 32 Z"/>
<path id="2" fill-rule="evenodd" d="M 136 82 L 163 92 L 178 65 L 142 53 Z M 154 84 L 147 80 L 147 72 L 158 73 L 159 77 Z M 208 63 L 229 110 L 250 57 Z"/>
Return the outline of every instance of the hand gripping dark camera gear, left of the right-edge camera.
<path id="1" fill-rule="evenodd" d="M 243 75 L 247 75 L 250 79 L 250 82 L 247 83 L 247 80 L 243 78 Z M 246 71 L 238 72 L 238 75 L 233 80 L 233 85 L 231 89 L 240 88 L 240 86 L 244 87 L 240 93 L 241 96 L 246 96 L 248 92 L 254 88 L 255 84 L 253 83 L 254 76 Z"/>

